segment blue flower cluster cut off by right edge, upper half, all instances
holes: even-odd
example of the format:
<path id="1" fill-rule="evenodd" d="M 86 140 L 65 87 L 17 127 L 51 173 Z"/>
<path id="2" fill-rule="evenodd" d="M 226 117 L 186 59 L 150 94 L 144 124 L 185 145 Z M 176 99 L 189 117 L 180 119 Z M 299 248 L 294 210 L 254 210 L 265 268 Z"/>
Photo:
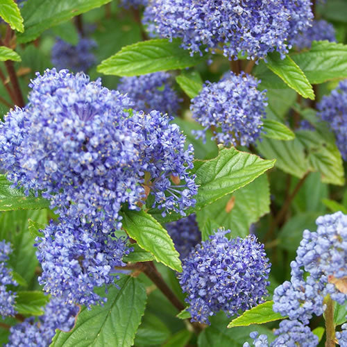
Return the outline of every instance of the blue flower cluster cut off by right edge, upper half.
<path id="1" fill-rule="evenodd" d="M 347 160 L 347 80 L 341 81 L 330 95 L 323 96 L 317 108 L 318 115 L 328 121 L 335 133 L 342 158 Z"/>

